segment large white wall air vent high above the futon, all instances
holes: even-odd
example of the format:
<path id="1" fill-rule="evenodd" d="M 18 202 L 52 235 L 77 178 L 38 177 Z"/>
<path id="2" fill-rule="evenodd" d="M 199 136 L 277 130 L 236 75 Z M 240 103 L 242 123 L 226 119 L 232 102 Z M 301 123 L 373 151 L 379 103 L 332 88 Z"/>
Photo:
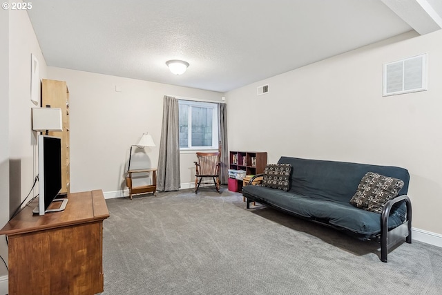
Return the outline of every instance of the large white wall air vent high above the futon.
<path id="1" fill-rule="evenodd" d="M 426 54 L 384 64 L 383 96 L 426 90 Z"/>

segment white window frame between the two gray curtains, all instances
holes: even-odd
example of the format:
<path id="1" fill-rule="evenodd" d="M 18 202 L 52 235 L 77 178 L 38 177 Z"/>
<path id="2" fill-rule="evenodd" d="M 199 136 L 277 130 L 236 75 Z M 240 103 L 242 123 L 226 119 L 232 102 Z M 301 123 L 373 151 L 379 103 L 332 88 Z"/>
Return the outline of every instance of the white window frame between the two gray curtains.
<path id="1" fill-rule="evenodd" d="M 188 136 L 187 146 L 181 147 L 180 151 L 195 151 L 195 150 L 218 150 L 218 104 L 214 102 L 198 102 L 193 100 L 178 99 L 180 106 L 188 106 Z M 192 146 L 192 107 L 209 108 L 212 110 L 212 145 L 211 146 Z M 180 114 L 178 113 L 178 121 Z"/>

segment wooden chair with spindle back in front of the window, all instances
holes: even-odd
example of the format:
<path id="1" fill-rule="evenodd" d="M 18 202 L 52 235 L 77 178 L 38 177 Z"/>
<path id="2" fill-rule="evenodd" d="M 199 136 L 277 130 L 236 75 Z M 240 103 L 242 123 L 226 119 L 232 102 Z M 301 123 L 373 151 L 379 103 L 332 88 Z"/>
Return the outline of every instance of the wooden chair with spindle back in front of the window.
<path id="1" fill-rule="evenodd" d="M 195 163 L 195 194 L 198 193 L 201 183 L 211 183 L 202 182 L 203 178 L 212 178 L 215 188 L 220 192 L 220 156 L 221 153 L 196 153 L 196 158 L 198 162 Z"/>

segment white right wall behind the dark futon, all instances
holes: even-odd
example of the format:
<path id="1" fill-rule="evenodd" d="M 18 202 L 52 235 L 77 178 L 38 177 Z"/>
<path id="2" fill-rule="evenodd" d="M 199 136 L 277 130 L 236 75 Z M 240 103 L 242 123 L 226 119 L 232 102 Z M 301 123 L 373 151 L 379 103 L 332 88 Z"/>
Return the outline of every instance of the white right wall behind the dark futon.
<path id="1" fill-rule="evenodd" d="M 382 97 L 383 63 L 422 53 L 428 91 Z M 409 32 L 231 91 L 229 149 L 267 151 L 270 163 L 288 155 L 402 166 L 413 227 L 442 234 L 441 65 L 442 30 Z"/>

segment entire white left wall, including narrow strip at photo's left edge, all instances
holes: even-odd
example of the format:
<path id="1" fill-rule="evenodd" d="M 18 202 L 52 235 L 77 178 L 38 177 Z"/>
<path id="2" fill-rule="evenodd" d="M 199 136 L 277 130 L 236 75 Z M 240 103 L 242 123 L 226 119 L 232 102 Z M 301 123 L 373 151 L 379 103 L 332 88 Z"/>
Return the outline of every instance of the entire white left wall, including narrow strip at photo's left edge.
<path id="1" fill-rule="evenodd" d="M 30 55 L 39 59 L 39 75 L 46 62 L 25 10 L 0 12 L 0 222 L 9 220 L 26 198 L 35 178 L 35 133 L 31 126 Z M 33 193 L 30 195 L 33 196 Z M 7 260 L 7 246 L 0 238 L 0 253 Z M 6 274 L 0 262 L 0 276 Z M 7 283 L 0 280 L 1 284 Z M 0 286 L 0 289 L 3 285 Z M 3 289 L 0 290 L 3 292 Z"/>

